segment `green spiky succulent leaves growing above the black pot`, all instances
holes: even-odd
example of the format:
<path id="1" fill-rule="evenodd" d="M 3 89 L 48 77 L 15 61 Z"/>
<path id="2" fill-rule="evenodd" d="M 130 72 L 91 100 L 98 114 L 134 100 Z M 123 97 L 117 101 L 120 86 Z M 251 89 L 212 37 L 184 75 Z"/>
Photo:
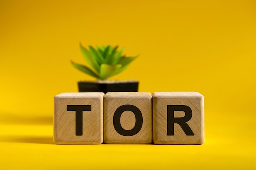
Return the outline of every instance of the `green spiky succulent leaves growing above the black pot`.
<path id="1" fill-rule="evenodd" d="M 136 57 L 122 55 L 124 49 L 117 50 L 118 46 L 89 46 L 89 49 L 80 44 L 80 50 L 85 61 L 91 66 L 84 66 L 71 61 L 78 70 L 97 79 L 105 80 L 124 71 Z"/>

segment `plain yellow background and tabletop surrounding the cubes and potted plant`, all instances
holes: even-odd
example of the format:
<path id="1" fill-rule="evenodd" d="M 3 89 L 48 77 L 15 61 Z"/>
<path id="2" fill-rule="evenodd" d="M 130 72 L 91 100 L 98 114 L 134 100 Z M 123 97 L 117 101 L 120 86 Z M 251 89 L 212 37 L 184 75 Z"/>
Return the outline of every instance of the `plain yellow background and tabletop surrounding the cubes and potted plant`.
<path id="1" fill-rule="evenodd" d="M 203 145 L 55 145 L 53 97 L 84 46 L 140 56 L 111 79 L 204 95 Z M 0 0 L 0 169 L 256 169 L 254 0 Z"/>

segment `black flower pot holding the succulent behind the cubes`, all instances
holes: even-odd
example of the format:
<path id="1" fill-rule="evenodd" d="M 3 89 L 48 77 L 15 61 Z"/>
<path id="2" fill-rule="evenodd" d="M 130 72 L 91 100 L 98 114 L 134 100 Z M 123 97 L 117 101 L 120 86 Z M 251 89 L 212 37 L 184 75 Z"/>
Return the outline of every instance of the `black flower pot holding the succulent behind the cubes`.
<path id="1" fill-rule="evenodd" d="M 94 81 L 78 82 L 79 92 L 137 92 L 139 82 L 130 81 Z"/>

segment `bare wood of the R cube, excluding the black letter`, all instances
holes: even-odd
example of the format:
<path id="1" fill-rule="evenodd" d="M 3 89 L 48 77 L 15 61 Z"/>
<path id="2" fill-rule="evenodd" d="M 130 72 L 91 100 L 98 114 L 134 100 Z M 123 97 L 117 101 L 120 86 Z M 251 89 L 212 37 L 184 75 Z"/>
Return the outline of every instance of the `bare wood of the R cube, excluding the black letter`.
<path id="1" fill-rule="evenodd" d="M 153 96 L 153 135 L 155 144 L 203 144 L 204 97 L 197 92 L 155 92 Z M 192 110 L 186 124 L 194 135 L 186 135 L 181 126 L 174 124 L 174 135 L 167 135 L 167 105 L 185 105 Z M 174 111 L 174 117 L 184 117 L 184 111 Z"/>

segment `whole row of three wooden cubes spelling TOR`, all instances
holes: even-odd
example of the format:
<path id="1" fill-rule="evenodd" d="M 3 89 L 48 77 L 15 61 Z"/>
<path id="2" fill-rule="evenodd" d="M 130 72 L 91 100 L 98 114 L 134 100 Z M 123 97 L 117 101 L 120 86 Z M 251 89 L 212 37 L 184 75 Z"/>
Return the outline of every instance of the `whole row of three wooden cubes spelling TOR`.
<path id="1" fill-rule="evenodd" d="M 61 93 L 54 97 L 56 144 L 203 144 L 197 92 Z"/>

